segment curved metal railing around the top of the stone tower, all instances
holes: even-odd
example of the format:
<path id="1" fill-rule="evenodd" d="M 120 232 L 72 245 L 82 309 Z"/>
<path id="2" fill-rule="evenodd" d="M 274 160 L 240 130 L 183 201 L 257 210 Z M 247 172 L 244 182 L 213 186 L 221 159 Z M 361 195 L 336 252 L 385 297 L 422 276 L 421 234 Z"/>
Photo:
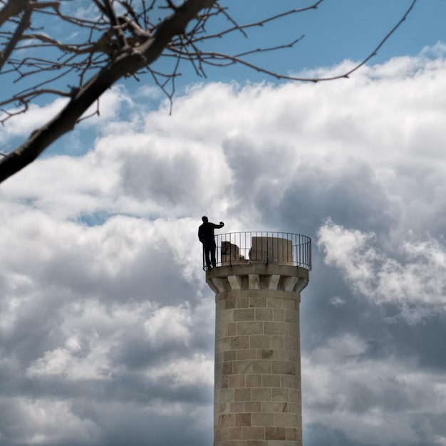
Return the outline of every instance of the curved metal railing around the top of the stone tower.
<path id="1" fill-rule="evenodd" d="M 311 239 L 289 232 L 229 232 L 215 236 L 215 266 L 280 262 L 311 270 Z M 203 269 L 208 269 L 203 250 Z"/>

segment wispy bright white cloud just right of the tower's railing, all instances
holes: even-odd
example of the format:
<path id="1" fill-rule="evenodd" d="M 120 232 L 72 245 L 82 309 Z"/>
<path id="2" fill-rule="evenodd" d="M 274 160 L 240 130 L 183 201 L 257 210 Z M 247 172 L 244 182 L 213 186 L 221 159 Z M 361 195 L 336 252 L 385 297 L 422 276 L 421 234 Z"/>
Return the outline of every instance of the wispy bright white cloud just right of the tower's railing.
<path id="1" fill-rule="evenodd" d="M 358 293 L 380 304 L 398 304 L 411 321 L 446 311 L 446 247 L 431 237 L 405 241 L 403 261 L 391 258 L 376 245 L 376 235 L 346 229 L 328 221 L 318 231 L 325 261 L 336 266 Z"/>

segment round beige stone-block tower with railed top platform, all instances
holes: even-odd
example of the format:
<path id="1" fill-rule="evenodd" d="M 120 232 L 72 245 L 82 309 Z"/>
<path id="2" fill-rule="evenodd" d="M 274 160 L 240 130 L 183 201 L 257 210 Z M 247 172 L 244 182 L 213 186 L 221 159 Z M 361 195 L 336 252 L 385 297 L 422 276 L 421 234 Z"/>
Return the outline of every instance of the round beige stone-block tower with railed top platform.
<path id="1" fill-rule="evenodd" d="M 311 239 L 219 234 L 215 292 L 214 446 L 301 446 L 299 304 Z"/>

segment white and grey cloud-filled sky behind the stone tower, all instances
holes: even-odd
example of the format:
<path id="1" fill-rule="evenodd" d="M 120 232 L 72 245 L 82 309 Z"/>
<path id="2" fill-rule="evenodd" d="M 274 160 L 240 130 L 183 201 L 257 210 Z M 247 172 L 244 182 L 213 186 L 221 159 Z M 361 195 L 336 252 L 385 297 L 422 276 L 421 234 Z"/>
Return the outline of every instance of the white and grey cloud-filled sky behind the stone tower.
<path id="1" fill-rule="evenodd" d="M 313 239 L 306 446 L 446 445 L 446 6 L 431 5 L 432 26 L 417 5 L 348 80 L 224 73 L 185 81 L 172 115 L 150 83 L 116 85 L 1 185 L 1 446 L 212 444 L 203 214 Z M 296 70 L 347 71 L 354 51 Z M 9 120 L 1 145 L 60 106 Z"/>

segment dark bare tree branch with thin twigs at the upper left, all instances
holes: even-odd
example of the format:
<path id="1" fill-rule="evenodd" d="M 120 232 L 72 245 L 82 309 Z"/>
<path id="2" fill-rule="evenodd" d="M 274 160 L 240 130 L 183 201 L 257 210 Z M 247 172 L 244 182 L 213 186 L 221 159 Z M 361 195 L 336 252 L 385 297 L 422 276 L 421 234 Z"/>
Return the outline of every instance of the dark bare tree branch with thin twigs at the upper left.
<path id="1" fill-rule="evenodd" d="M 252 28 L 316 10 L 323 0 L 314 0 L 311 5 L 301 9 L 279 11 L 249 24 L 238 24 L 227 9 L 219 4 L 219 0 L 184 0 L 180 6 L 172 0 L 150 0 L 147 3 L 146 0 L 139 0 L 139 8 L 135 8 L 133 1 L 93 0 L 96 16 L 88 18 L 63 13 L 60 6 L 62 1 L 2 2 L 5 6 L 0 10 L 0 44 L 3 45 L 0 71 L 2 74 L 16 75 L 15 83 L 24 83 L 24 87 L 11 93 L 9 98 L 0 100 L 0 123 L 26 113 L 31 103 L 42 95 L 57 95 L 68 98 L 68 102 L 60 113 L 35 130 L 20 147 L 9 154 L 0 153 L 0 182 L 35 160 L 46 147 L 72 130 L 80 120 L 88 118 L 85 112 L 93 103 L 96 103 L 96 108 L 91 115 L 98 115 L 100 96 L 121 78 L 149 73 L 155 85 L 169 98 L 171 107 L 175 80 L 180 76 L 180 63 L 183 61 L 191 63 L 199 76 L 206 76 L 206 66 L 237 63 L 266 76 L 289 81 L 318 82 L 346 78 L 375 56 L 388 38 L 400 28 L 418 0 L 411 1 L 398 23 L 369 56 L 347 73 L 329 78 L 289 76 L 248 60 L 249 56 L 256 53 L 292 48 L 303 36 L 296 36 L 289 42 L 248 48 L 232 54 L 202 49 L 203 44 L 208 45 L 213 39 L 230 33 L 241 33 L 247 37 Z M 157 2 L 162 3 L 157 10 L 162 11 L 160 19 L 155 14 Z M 117 6 L 125 15 L 117 14 Z M 76 40 L 65 42 L 51 32 L 46 32 L 48 30 L 31 28 L 33 14 L 37 14 L 37 17 L 49 16 L 61 21 L 64 26 L 72 27 L 76 30 L 73 33 Z M 218 31 L 214 29 L 208 33 L 209 24 L 219 18 L 227 22 L 226 28 L 223 26 Z M 221 26 L 222 21 L 218 23 Z M 21 53 L 16 56 L 19 48 Z M 167 73 L 151 68 L 151 64 L 161 56 L 173 58 Z M 70 76 L 70 82 L 73 82 L 73 75 L 77 76 L 76 85 L 69 85 L 65 90 L 60 88 L 61 79 Z M 25 81 L 29 82 L 33 76 L 36 76 L 37 81 L 31 83 L 31 86 L 27 85 Z M 11 108 L 13 104 L 14 109 Z"/>

